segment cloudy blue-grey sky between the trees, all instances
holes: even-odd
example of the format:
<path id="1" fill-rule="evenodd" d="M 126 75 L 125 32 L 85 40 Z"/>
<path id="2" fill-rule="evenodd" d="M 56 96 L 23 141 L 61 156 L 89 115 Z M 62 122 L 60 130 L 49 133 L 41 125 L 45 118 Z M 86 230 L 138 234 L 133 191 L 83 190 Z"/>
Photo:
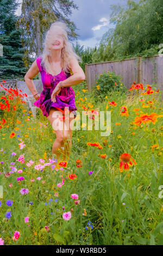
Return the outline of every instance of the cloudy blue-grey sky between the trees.
<path id="1" fill-rule="evenodd" d="M 18 0 L 22 2 L 22 0 Z M 103 34 L 114 28 L 110 24 L 110 5 L 127 3 L 127 0 L 73 0 L 79 8 L 72 9 L 69 19 L 77 27 L 76 33 L 79 34 L 76 40 L 84 48 L 98 46 Z M 16 11 L 17 15 L 21 14 L 21 5 Z"/>

